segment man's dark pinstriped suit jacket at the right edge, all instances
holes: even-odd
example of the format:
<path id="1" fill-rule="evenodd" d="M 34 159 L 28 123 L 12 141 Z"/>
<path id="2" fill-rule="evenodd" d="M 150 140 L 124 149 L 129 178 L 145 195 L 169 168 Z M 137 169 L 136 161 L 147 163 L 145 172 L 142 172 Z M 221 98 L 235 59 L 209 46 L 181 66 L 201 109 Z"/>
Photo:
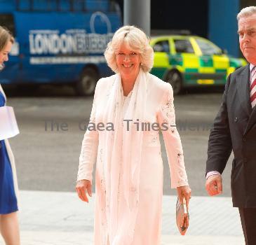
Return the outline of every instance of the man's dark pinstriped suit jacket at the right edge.
<path id="1" fill-rule="evenodd" d="M 234 207 L 256 207 L 256 106 L 250 104 L 249 65 L 227 79 L 220 111 L 208 142 L 206 172 L 223 172 L 234 152 L 231 192 Z"/>

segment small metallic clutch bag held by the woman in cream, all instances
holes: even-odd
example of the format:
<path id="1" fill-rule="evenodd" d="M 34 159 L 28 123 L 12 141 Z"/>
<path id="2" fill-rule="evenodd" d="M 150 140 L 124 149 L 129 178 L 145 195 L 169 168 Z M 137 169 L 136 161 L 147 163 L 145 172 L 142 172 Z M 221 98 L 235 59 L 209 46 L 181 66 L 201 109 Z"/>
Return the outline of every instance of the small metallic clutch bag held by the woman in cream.
<path id="1" fill-rule="evenodd" d="M 180 204 L 179 197 L 176 203 L 176 224 L 180 234 L 184 236 L 187 228 L 189 228 L 189 212 L 187 211 L 186 201 L 183 200 L 183 203 Z"/>

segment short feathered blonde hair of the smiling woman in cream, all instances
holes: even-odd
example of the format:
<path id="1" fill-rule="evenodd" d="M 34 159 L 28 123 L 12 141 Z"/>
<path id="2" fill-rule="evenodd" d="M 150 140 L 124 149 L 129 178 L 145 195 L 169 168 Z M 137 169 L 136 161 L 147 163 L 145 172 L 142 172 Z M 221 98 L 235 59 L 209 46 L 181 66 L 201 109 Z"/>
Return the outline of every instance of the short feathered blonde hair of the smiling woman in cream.
<path id="1" fill-rule="evenodd" d="M 116 52 L 122 43 L 128 44 L 128 46 L 139 52 L 141 60 L 141 68 L 144 72 L 150 71 L 154 63 L 154 51 L 149 45 L 149 38 L 144 32 L 134 26 L 126 25 L 118 29 L 110 41 L 107 44 L 105 50 L 105 58 L 108 66 L 112 71 L 118 73 L 119 69 L 116 64 Z"/>

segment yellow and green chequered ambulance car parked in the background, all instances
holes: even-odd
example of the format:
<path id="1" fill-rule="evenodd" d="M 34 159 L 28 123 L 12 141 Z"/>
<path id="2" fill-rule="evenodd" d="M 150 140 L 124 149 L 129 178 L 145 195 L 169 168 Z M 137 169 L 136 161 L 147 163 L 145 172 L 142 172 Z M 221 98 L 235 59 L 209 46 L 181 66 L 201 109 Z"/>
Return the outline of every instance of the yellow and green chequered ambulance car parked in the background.
<path id="1" fill-rule="evenodd" d="M 151 73 L 170 83 L 174 94 L 185 87 L 224 85 L 231 72 L 247 64 L 200 36 L 155 36 L 150 44 L 154 49 Z"/>

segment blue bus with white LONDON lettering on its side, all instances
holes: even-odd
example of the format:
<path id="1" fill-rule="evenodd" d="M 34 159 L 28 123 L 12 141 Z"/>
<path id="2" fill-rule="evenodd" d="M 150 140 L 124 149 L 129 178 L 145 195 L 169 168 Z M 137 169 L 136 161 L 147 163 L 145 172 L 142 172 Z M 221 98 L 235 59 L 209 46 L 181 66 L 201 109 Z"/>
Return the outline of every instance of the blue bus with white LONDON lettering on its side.
<path id="1" fill-rule="evenodd" d="M 0 0 L 0 25 L 15 36 L 2 84 L 69 84 L 88 95 L 111 73 L 103 52 L 121 12 L 110 0 Z"/>

